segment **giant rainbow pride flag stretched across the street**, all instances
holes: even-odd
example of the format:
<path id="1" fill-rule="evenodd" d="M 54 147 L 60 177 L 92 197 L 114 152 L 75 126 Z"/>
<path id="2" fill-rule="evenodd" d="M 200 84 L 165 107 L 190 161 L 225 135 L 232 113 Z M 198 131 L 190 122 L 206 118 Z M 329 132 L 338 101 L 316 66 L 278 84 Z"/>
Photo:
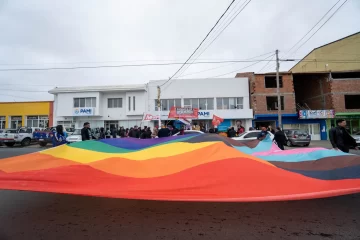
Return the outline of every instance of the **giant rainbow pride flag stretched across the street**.
<path id="1" fill-rule="evenodd" d="M 360 156 L 281 151 L 214 134 L 106 139 L 0 160 L 0 189 L 174 201 L 278 201 L 360 192 Z"/>

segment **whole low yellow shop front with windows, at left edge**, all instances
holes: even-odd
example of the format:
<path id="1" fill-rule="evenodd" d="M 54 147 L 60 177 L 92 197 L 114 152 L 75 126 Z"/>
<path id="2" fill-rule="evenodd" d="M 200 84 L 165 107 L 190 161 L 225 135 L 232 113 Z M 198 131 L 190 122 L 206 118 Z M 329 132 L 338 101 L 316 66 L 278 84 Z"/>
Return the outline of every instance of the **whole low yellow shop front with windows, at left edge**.
<path id="1" fill-rule="evenodd" d="M 0 129 L 53 125 L 53 102 L 4 102 L 0 103 Z"/>

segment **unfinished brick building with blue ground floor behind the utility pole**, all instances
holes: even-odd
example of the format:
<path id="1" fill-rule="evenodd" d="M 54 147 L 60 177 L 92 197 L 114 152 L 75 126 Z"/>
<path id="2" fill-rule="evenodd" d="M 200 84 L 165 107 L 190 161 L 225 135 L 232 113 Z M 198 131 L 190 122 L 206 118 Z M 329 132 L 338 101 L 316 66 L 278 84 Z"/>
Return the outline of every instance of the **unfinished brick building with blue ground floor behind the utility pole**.
<path id="1" fill-rule="evenodd" d="M 249 79 L 250 107 L 254 111 L 253 126 L 278 126 L 278 99 L 276 92 L 276 74 L 238 73 L 236 77 Z M 281 72 L 279 77 L 282 123 L 284 129 L 303 129 L 314 140 L 326 140 L 325 119 L 301 119 L 298 114 L 299 102 L 295 95 L 293 75 Z M 306 87 L 306 86 L 305 86 Z M 305 97 L 306 98 L 306 97 Z"/>

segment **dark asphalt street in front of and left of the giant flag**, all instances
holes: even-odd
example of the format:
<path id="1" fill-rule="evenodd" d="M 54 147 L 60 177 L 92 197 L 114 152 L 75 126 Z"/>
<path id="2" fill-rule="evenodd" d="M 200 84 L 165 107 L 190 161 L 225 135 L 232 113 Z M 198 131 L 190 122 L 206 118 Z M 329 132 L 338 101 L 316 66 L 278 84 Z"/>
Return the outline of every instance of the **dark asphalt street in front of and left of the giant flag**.
<path id="1" fill-rule="evenodd" d="M 0 158 L 39 150 L 0 148 Z M 360 194 L 186 203 L 0 190 L 0 223 L 0 240 L 360 239 Z"/>

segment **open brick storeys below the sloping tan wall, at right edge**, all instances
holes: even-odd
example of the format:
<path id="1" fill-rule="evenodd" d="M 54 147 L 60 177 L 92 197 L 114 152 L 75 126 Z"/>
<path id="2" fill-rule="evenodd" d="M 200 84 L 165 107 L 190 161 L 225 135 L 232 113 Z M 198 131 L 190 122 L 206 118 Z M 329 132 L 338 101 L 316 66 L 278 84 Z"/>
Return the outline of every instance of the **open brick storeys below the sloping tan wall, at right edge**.
<path id="1" fill-rule="evenodd" d="M 335 111 L 335 118 L 327 118 L 327 129 L 343 118 L 351 134 L 360 131 L 360 71 L 294 73 L 293 79 L 296 102 L 311 110 Z"/>

